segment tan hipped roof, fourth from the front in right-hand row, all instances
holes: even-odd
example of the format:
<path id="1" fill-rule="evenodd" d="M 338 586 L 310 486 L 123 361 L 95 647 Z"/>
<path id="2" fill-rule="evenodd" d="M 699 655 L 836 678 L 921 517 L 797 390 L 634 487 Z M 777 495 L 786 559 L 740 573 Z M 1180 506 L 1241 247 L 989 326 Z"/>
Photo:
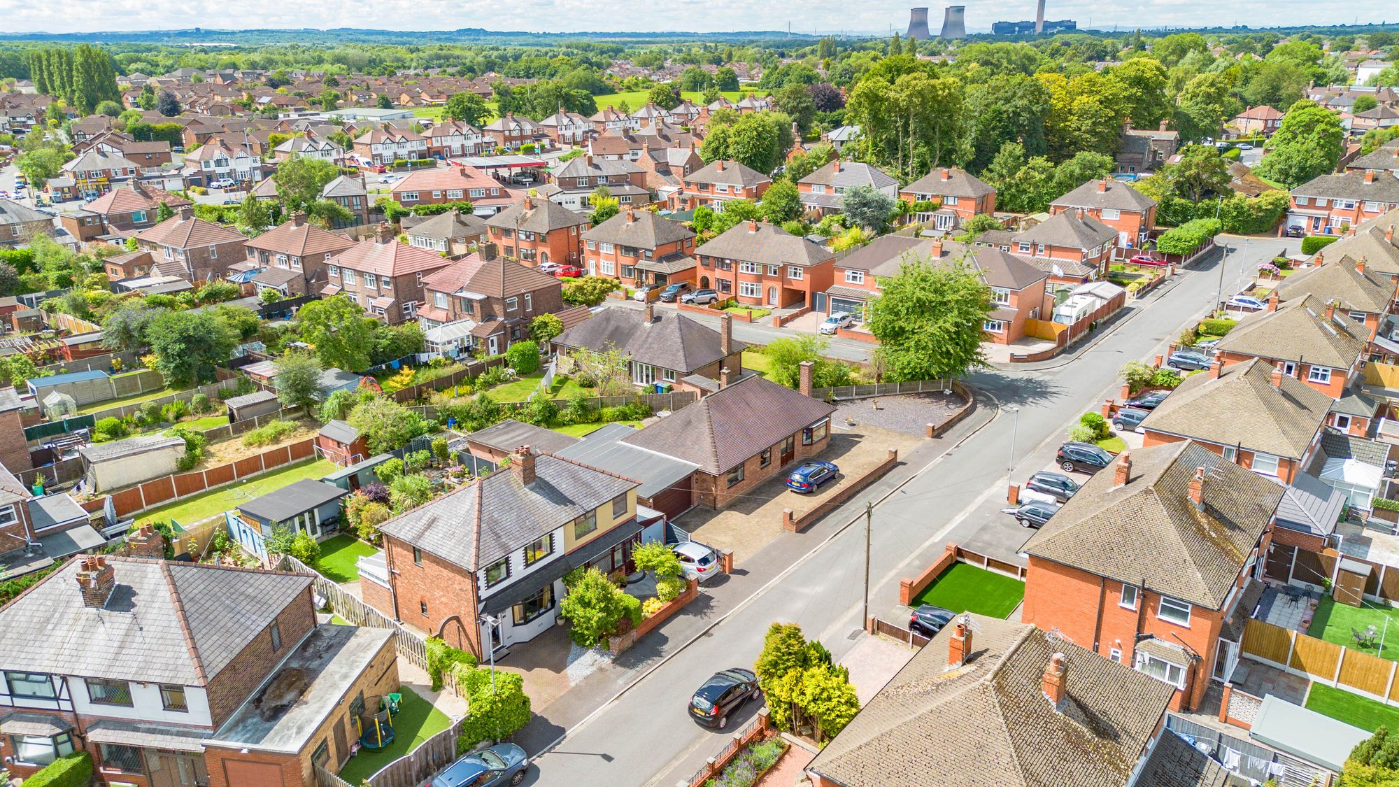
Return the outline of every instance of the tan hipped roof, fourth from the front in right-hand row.
<path id="1" fill-rule="evenodd" d="M 1368 339 L 1370 330 L 1363 323 L 1342 309 L 1328 319 L 1326 304 L 1305 294 L 1276 311 L 1247 315 L 1220 339 L 1216 351 L 1349 370 Z"/>

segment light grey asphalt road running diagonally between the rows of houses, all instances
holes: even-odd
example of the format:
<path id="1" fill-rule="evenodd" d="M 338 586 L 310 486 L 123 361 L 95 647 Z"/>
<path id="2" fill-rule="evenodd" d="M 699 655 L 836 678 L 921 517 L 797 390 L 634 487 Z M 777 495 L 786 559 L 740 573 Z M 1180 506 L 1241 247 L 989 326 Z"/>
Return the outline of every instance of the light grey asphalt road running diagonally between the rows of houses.
<path id="1" fill-rule="evenodd" d="M 1295 241 L 1228 239 L 1240 249 L 1224 266 L 1224 290 L 1252 276 L 1258 262 Z M 919 471 L 908 483 L 877 503 L 873 515 L 870 611 L 881 615 L 897 602 L 898 580 L 930 563 L 950 541 L 999 543 L 1013 553 L 1025 531 L 1009 517 L 988 518 L 999 507 L 1007 465 L 1017 473 L 1046 465 L 1069 422 L 1119 386 L 1116 371 L 1149 358 L 1179 335 L 1181 328 L 1209 308 L 1217 295 L 1220 260 L 1181 273 L 1175 281 L 1147 295 L 1130 319 L 1105 328 L 1093 346 L 1053 368 L 982 371 L 971 377 L 1000 412 L 960 447 Z M 741 337 L 741 336 L 740 336 Z M 1018 415 L 1006 406 L 1018 408 Z M 855 521 L 851 511 L 837 517 Z M 800 623 L 839 658 L 860 630 L 863 528 L 848 527 L 797 559 L 783 574 L 733 608 L 704 636 L 680 647 L 620 697 L 568 730 L 567 737 L 530 769 L 530 784 L 649 786 L 676 784 L 727 742 L 726 732 L 694 724 L 687 716 L 690 695 L 711 672 L 751 665 L 762 636 L 774 620 Z M 739 728 L 758 703 L 750 703 Z M 548 710 L 546 709 L 546 714 Z"/>

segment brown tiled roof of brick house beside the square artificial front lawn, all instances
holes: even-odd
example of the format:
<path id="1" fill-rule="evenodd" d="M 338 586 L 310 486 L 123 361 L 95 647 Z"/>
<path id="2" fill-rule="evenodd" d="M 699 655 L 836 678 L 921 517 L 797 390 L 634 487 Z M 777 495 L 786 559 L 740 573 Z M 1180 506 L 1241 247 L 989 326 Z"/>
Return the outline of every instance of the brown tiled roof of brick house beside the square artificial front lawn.
<path id="1" fill-rule="evenodd" d="M 1023 550 L 1220 609 L 1277 510 L 1281 485 L 1191 441 L 1136 448 L 1130 461 L 1126 485 L 1114 486 L 1114 462 Z M 1196 468 L 1205 468 L 1203 511 L 1188 497 Z"/>

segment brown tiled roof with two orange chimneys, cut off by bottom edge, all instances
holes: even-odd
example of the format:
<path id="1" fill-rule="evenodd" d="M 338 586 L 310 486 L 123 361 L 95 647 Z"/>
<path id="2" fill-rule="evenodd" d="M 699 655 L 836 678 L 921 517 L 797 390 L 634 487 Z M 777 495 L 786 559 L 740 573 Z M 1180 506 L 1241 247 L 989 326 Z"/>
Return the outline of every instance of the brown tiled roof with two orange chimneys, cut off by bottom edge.
<path id="1" fill-rule="evenodd" d="M 972 658 L 949 668 L 944 627 L 809 770 L 845 787 L 1126 784 L 1174 688 L 1028 623 L 970 620 Z M 1058 707 L 1042 689 L 1056 653 Z"/>

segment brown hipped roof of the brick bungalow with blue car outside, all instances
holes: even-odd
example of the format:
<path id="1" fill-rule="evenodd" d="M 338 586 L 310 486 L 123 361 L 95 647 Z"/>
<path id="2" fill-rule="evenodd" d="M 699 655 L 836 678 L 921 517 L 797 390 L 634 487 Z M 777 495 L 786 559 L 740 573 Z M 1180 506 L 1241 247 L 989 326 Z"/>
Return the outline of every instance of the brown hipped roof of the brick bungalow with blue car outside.
<path id="1" fill-rule="evenodd" d="M 832 405 L 753 375 L 676 410 L 624 443 L 720 475 L 834 412 Z"/>

